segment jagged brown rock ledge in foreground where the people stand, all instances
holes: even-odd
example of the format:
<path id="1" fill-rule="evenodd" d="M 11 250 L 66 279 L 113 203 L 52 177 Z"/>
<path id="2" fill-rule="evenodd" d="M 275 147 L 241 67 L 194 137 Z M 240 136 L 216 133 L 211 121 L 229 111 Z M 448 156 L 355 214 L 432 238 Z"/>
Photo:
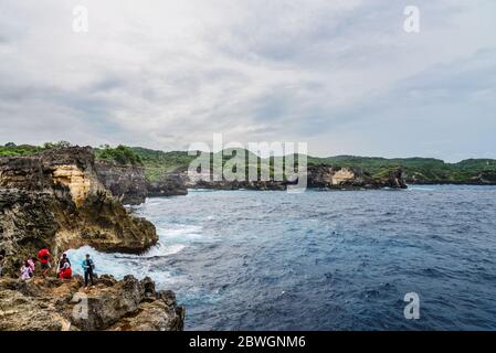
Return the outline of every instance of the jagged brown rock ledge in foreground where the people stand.
<path id="1" fill-rule="evenodd" d="M 184 308 L 171 291 L 133 276 L 102 276 L 88 292 L 70 281 L 0 279 L 0 331 L 180 331 Z"/>

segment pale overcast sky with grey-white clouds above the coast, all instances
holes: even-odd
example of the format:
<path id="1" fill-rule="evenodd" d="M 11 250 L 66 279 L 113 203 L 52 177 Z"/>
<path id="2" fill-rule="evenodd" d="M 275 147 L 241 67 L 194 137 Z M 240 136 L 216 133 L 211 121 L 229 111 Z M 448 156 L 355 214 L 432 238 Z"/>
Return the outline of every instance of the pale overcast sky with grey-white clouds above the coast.
<path id="1" fill-rule="evenodd" d="M 0 143 L 186 150 L 222 133 L 496 158 L 495 15 L 494 0 L 0 0 Z"/>

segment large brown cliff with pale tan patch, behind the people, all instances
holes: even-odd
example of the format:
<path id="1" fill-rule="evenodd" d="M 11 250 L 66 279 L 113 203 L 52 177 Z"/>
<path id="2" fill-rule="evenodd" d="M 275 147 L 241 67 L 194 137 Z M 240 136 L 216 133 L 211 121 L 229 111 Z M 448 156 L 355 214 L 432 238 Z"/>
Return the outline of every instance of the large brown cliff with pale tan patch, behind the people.
<path id="1" fill-rule="evenodd" d="M 99 182 L 91 148 L 1 157 L 0 205 L 8 272 L 42 247 L 140 253 L 158 240 L 155 226 L 128 214 Z"/>

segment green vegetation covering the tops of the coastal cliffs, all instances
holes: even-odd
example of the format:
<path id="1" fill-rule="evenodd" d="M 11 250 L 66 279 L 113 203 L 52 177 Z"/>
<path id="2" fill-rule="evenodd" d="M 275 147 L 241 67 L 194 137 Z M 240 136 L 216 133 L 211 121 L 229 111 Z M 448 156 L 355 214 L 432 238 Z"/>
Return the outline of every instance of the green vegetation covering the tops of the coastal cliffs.
<path id="1" fill-rule="evenodd" d="M 67 142 L 45 143 L 42 147 L 7 143 L 0 147 L 0 156 L 25 156 L 45 149 L 63 147 Z M 141 147 L 103 146 L 95 149 L 95 158 L 110 160 L 118 164 L 143 165 L 149 181 L 156 181 L 166 173 L 183 171 L 194 156 L 186 151 L 159 151 Z M 224 162 L 231 154 L 224 156 Z M 260 159 L 258 159 L 260 160 Z M 468 159 L 457 163 L 445 163 L 433 158 L 394 158 L 337 156 L 317 158 L 308 156 L 308 165 L 347 167 L 372 176 L 380 176 L 394 168 L 401 168 L 407 182 L 418 183 L 496 183 L 496 160 Z M 262 160 L 266 163 L 267 160 Z"/>

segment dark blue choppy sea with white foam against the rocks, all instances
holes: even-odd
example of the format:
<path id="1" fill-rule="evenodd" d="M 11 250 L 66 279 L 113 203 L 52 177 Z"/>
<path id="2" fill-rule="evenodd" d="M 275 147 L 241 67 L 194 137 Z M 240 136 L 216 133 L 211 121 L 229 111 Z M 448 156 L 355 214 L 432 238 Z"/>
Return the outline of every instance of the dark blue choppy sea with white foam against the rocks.
<path id="1" fill-rule="evenodd" d="M 496 330 L 493 186 L 192 191 L 136 212 L 160 244 L 98 270 L 175 290 L 188 330 Z"/>

